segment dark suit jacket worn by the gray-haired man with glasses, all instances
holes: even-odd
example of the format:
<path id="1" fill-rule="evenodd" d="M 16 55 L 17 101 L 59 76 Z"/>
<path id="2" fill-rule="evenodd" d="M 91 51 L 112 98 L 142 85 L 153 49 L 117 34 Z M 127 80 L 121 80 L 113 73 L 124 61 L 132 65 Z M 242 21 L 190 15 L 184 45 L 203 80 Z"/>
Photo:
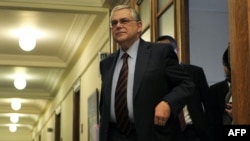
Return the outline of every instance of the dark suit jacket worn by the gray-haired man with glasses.
<path id="1" fill-rule="evenodd" d="M 119 51 L 100 63 L 100 141 L 108 139 L 112 78 L 118 55 Z M 133 114 L 138 141 L 177 141 L 180 133 L 177 115 L 193 90 L 193 82 L 179 65 L 171 47 L 140 39 L 133 89 Z M 154 125 L 154 109 L 162 100 L 169 103 L 171 116 L 165 126 L 157 126 Z"/>

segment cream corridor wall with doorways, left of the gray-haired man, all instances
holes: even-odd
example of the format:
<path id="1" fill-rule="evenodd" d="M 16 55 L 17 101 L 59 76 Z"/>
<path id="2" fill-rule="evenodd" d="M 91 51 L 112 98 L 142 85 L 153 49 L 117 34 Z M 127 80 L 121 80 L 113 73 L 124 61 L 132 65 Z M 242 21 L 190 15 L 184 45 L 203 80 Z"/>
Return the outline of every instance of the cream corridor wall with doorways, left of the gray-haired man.
<path id="1" fill-rule="evenodd" d="M 88 141 L 88 97 L 96 90 L 100 89 L 101 80 L 99 75 L 100 51 L 110 51 L 110 29 L 109 29 L 108 9 L 107 15 L 100 23 L 93 35 L 92 40 L 84 46 L 84 51 L 70 72 L 65 76 L 65 81 L 61 84 L 56 97 L 51 101 L 43 116 L 39 119 L 36 129 L 33 131 L 34 141 L 38 141 L 41 134 L 42 141 L 54 140 L 54 132 L 47 132 L 47 128 L 55 125 L 55 110 L 61 107 L 61 140 L 71 141 L 73 138 L 73 86 L 80 80 L 80 124 L 83 125 L 80 133 L 81 141 Z M 79 125 L 80 126 L 80 125 Z M 27 140 L 29 141 L 29 140 Z"/>

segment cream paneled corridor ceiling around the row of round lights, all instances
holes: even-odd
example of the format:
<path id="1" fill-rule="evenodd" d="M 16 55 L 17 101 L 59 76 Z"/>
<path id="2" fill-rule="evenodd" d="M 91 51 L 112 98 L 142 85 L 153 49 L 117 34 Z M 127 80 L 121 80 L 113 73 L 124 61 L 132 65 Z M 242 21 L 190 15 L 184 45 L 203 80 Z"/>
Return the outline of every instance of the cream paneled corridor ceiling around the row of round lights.
<path id="1" fill-rule="evenodd" d="M 10 115 L 19 115 L 18 130 L 31 130 L 55 97 L 58 85 L 83 51 L 112 0 L 1 0 L 0 1 L 0 131 L 9 130 Z M 37 39 L 34 50 L 18 45 L 24 30 Z M 17 90 L 15 76 L 27 86 Z M 13 99 L 22 107 L 11 109 Z"/>

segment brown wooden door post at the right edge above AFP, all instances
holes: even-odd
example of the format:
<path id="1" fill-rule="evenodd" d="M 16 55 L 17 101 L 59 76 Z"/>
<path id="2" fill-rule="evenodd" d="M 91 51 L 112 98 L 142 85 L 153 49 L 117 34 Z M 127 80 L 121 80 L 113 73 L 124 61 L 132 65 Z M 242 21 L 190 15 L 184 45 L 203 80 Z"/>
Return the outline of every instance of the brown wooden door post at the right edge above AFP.
<path id="1" fill-rule="evenodd" d="M 250 2 L 228 2 L 233 123 L 250 124 Z"/>

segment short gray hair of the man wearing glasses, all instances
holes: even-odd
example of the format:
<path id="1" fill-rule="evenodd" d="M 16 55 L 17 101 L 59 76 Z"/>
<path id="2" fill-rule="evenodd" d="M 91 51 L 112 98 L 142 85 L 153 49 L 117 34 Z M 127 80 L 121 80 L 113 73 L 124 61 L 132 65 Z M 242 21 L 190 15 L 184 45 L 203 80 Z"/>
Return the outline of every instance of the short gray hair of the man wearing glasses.
<path id="1" fill-rule="evenodd" d="M 121 9 L 129 9 L 130 12 L 131 12 L 132 18 L 133 18 L 134 20 L 136 20 L 136 21 L 141 21 L 141 17 L 140 17 L 140 15 L 139 15 L 139 13 L 138 13 L 134 8 L 132 8 L 132 7 L 128 6 L 128 5 L 117 5 L 117 6 L 115 6 L 115 7 L 112 9 L 112 11 L 111 11 L 110 21 L 111 21 L 111 18 L 112 18 L 112 16 L 113 16 L 114 12 L 119 11 L 119 10 L 121 10 Z"/>

